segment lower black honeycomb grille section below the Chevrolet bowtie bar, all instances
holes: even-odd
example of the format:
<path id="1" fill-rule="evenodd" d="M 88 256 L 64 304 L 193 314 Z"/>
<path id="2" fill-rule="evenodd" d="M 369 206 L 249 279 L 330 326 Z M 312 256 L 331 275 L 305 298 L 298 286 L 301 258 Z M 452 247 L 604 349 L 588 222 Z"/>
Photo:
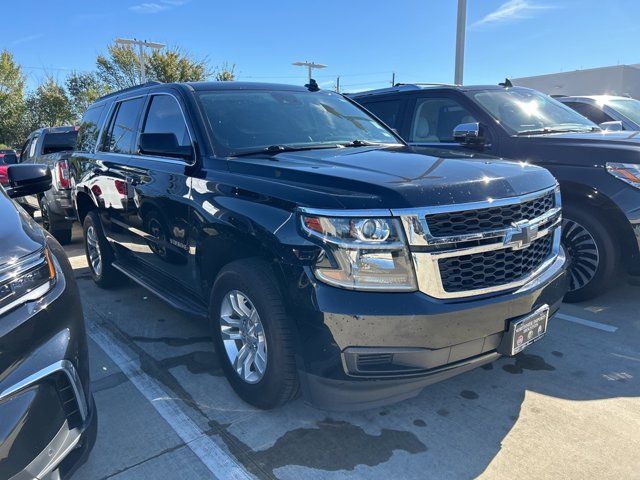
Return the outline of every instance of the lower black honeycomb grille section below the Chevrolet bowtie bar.
<path id="1" fill-rule="evenodd" d="M 553 237 L 547 235 L 522 250 L 490 250 L 438 260 L 442 286 L 447 292 L 491 288 L 531 275 L 551 256 Z"/>

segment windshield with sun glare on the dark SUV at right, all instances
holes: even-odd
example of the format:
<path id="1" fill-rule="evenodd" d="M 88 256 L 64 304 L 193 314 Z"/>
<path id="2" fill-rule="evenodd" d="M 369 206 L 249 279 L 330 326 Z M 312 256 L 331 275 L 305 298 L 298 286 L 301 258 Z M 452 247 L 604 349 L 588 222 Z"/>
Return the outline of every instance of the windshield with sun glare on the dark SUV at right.
<path id="1" fill-rule="evenodd" d="M 591 131 L 597 125 L 543 93 L 526 88 L 485 90 L 469 95 L 512 133 Z"/>

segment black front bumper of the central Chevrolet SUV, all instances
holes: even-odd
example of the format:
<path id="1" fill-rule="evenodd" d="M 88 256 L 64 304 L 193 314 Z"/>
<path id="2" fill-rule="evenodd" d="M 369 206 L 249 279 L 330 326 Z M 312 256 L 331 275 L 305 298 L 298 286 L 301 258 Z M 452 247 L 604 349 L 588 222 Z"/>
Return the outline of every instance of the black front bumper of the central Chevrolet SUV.
<path id="1" fill-rule="evenodd" d="M 550 315 L 558 310 L 565 264 L 560 253 L 516 291 L 456 301 L 315 283 L 315 312 L 295 313 L 305 319 L 298 321 L 298 365 L 306 398 L 328 409 L 370 408 L 494 361 L 512 320 L 545 304 Z"/>

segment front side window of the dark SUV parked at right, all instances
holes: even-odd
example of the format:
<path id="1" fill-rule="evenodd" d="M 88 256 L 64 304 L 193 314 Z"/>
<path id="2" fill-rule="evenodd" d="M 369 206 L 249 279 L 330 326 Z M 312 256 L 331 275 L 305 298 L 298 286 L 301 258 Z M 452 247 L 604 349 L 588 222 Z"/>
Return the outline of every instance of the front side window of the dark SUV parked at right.
<path id="1" fill-rule="evenodd" d="M 453 129 L 461 123 L 477 122 L 462 105 L 449 98 L 420 98 L 411 123 L 410 142 L 452 143 Z"/>

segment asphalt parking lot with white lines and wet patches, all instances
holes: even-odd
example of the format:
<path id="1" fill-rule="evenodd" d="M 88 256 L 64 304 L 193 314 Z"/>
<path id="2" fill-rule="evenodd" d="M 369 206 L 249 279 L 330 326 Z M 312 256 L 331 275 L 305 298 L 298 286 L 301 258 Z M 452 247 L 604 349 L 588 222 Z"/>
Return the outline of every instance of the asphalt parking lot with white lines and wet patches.
<path id="1" fill-rule="evenodd" d="M 640 287 L 565 305 L 516 358 L 357 413 L 240 401 L 206 325 L 67 248 L 90 337 L 98 438 L 81 479 L 640 478 Z"/>

